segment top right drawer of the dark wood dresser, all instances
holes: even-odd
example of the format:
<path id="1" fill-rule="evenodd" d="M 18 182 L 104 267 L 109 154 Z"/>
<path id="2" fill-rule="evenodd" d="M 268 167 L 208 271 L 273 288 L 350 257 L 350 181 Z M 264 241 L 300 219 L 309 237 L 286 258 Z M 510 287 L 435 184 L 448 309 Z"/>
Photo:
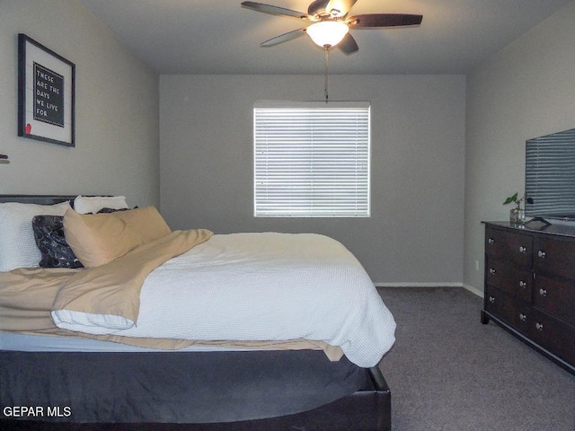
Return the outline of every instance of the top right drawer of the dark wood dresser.
<path id="1" fill-rule="evenodd" d="M 535 238 L 533 259 L 536 273 L 544 272 L 575 280 L 575 242 Z"/>

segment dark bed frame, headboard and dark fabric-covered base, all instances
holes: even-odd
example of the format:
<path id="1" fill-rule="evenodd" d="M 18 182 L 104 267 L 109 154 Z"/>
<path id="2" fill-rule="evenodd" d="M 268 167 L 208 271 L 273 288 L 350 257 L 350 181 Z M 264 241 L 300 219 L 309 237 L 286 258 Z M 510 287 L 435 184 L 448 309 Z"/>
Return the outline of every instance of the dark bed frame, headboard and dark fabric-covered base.
<path id="1" fill-rule="evenodd" d="M 0 202 L 73 198 L 0 195 Z M 4 408 L 14 406 L 41 407 L 42 415 L 6 417 Z M 3 430 L 391 430 L 391 391 L 379 367 L 345 356 L 330 362 L 317 350 L 0 350 L 0 408 Z"/>

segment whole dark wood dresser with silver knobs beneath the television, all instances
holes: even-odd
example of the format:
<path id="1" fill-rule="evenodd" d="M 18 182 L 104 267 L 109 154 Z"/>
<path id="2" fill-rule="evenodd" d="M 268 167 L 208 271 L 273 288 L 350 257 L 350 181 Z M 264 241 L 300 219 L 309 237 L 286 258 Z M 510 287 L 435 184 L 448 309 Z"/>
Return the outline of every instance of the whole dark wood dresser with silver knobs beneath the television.
<path id="1" fill-rule="evenodd" d="M 485 224 L 482 323 L 575 374 L 575 226 Z"/>

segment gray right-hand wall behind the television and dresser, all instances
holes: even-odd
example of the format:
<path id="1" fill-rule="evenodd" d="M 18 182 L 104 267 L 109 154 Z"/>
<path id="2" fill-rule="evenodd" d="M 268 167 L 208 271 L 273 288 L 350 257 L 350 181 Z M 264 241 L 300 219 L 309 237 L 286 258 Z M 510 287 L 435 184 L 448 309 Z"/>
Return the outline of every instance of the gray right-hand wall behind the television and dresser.
<path id="1" fill-rule="evenodd" d="M 468 75 L 464 285 L 482 291 L 482 220 L 525 189 L 526 139 L 575 128 L 575 2 Z M 476 270 L 476 265 L 479 270 Z"/>

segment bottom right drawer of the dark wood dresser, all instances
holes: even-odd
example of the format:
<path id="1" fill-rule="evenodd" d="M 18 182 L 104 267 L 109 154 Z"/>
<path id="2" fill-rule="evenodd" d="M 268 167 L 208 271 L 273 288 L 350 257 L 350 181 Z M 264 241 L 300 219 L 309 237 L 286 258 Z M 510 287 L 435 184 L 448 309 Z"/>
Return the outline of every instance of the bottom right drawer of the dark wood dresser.
<path id="1" fill-rule="evenodd" d="M 531 334 L 535 343 L 575 365 L 575 327 L 534 309 Z"/>

